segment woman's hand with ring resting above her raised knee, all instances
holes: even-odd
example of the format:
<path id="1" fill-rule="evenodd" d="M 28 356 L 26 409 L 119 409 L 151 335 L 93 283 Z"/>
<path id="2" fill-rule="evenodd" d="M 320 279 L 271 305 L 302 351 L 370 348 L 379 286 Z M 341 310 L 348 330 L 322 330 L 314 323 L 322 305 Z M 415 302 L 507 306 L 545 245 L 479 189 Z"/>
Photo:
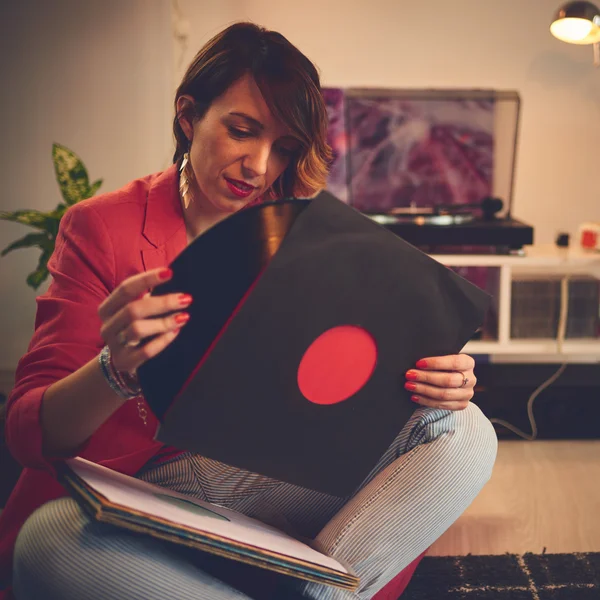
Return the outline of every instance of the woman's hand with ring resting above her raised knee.
<path id="1" fill-rule="evenodd" d="M 477 383 L 474 367 L 467 354 L 423 358 L 406 372 L 404 387 L 412 392 L 411 400 L 423 406 L 464 410 Z"/>

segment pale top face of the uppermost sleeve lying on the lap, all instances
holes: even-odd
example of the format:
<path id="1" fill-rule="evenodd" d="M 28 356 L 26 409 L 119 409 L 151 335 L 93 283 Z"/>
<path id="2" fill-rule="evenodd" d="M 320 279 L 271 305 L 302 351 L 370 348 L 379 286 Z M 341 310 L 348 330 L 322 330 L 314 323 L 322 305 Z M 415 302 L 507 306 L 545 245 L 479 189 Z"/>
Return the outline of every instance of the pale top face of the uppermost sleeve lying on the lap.
<path id="1" fill-rule="evenodd" d="M 67 460 L 66 464 L 109 502 L 125 509 L 349 574 L 337 560 L 239 512 L 123 475 L 83 458 Z"/>

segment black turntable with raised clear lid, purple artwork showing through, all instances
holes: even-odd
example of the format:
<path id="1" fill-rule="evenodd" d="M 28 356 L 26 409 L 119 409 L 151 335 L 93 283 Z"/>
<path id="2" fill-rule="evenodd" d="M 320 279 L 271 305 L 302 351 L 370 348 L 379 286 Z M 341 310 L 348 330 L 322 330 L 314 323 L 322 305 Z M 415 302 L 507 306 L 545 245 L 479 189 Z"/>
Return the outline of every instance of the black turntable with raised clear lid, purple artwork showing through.
<path id="1" fill-rule="evenodd" d="M 326 88 L 327 189 L 429 253 L 512 253 L 520 98 L 514 91 Z"/>

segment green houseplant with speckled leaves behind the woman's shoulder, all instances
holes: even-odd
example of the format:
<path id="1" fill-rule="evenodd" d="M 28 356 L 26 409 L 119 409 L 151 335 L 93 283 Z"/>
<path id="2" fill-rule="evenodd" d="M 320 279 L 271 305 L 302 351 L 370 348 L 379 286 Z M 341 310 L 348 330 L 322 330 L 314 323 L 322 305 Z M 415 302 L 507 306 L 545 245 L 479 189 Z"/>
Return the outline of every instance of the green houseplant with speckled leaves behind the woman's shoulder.
<path id="1" fill-rule="evenodd" d="M 0 211 L 0 219 L 22 223 L 37 230 L 13 242 L 4 248 L 1 253 L 1 256 L 6 256 L 9 252 L 18 248 L 40 248 L 42 253 L 37 268 L 27 276 L 27 285 L 34 290 L 48 277 L 48 260 L 54 251 L 58 226 L 66 210 L 69 206 L 93 196 L 102 185 L 102 179 L 90 184 L 85 165 L 75 152 L 65 148 L 65 146 L 52 145 L 52 160 L 63 202 L 50 212 L 32 209 L 14 212 Z"/>

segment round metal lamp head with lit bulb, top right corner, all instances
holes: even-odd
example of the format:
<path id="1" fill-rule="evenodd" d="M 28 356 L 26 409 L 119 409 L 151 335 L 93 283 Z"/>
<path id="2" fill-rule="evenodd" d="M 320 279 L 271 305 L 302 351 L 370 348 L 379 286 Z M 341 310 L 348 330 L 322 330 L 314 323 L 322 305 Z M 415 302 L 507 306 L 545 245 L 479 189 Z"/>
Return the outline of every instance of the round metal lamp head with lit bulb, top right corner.
<path id="1" fill-rule="evenodd" d="M 550 31 L 569 44 L 600 42 L 600 9 L 591 2 L 567 2 L 556 11 Z"/>

